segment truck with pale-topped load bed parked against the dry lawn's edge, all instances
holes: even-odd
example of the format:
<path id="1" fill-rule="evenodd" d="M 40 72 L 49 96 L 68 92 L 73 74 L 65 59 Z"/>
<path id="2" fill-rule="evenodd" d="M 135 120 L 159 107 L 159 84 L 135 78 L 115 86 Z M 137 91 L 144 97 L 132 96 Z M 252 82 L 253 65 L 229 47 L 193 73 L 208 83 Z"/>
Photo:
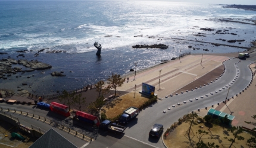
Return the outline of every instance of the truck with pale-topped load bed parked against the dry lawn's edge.
<path id="1" fill-rule="evenodd" d="M 129 107 L 126 110 L 124 110 L 118 122 L 120 124 L 127 124 L 129 123 L 130 120 L 136 118 L 138 114 L 139 114 L 139 108 Z"/>

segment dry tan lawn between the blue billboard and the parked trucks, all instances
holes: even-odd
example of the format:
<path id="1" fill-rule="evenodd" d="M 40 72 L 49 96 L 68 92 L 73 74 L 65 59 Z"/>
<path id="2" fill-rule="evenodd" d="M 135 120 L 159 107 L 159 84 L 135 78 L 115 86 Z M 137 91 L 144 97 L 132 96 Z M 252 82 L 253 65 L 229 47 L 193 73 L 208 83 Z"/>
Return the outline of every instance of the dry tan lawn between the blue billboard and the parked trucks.
<path id="1" fill-rule="evenodd" d="M 134 98 L 134 92 L 120 96 L 119 98 L 114 99 L 105 105 L 101 112 L 104 112 L 107 115 L 107 118 L 114 118 L 117 115 L 123 113 L 129 107 L 139 107 L 144 102 L 148 101 L 148 96 L 142 95 L 139 92 L 136 92 Z"/>

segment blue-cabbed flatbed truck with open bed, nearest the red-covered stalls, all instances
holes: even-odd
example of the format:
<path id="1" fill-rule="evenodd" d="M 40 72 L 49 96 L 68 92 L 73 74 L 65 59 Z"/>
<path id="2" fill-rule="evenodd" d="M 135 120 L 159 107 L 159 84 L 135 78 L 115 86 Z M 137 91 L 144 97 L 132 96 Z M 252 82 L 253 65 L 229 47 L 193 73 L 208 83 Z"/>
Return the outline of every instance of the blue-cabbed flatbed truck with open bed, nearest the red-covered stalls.
<path id="1" fill-rule="evenodd" d="M 126 129 L 126 127 L 112 123 L 110 120 L 104 120 L 101 124 L 99 124 L 99 129 L 104 131 L 111 131 L 115 134 L 121 134 Z"/>

